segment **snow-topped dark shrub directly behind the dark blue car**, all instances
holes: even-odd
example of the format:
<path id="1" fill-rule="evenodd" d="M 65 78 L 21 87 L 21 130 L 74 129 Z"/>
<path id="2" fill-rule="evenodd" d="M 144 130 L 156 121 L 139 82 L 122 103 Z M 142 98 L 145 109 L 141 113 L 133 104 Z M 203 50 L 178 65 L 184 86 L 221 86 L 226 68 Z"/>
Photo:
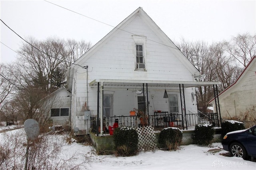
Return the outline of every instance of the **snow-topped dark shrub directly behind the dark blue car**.
<path id="1" fill-rule="evenodd" d="M 244 123 L 234 120 L 226 120 L 221 124 L 221 135 L 224 137 L 228 132 L 245 129 Z"/>

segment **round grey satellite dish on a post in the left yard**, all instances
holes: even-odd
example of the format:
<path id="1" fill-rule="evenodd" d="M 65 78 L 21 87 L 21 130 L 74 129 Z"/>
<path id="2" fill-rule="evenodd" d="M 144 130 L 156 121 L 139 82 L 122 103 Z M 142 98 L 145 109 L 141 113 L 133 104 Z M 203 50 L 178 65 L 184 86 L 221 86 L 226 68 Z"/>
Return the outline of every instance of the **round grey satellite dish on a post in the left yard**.
<path id="1" fill-rule="evenodd" d="M 39 135 L 39 124 L 34 119 L 27 119 L 24 122 L 24 130 L 28 136 L 28 139 L 35 140 Z"/>

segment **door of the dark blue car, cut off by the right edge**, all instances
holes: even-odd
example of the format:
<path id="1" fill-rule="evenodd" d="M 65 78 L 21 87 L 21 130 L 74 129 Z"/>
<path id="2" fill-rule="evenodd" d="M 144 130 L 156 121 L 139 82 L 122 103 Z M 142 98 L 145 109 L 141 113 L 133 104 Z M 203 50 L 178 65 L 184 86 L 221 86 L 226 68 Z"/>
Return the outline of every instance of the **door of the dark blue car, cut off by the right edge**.
<path id="1" fill-rule="evenodd" d="M 248 146 L 248 154 L 252 154 L 254 157 L 256 156 L 256 127 L 254 126 L 252 129 L 249 129 L 249 133 L 247 136 L 247 146 Z"/>

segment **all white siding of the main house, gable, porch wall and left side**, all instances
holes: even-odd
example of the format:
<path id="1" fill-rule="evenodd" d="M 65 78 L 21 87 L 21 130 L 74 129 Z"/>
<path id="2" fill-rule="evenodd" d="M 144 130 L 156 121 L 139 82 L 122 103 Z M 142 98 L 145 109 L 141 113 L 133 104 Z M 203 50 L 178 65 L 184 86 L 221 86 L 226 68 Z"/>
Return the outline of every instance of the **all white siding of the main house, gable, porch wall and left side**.
<path id="1" fill-rule="evenodd" d="M 71 118 L 73 129 L 76 127 L 79 130 L 86 129 L 86 121 L 82 117 L 84 115 L 84 103 L 87 101 L 86 72 L 88 72 L 88 83 L 95 79 L 194 81 L 192 73 L 184 66 L 184 63 L 181 63 L 176 55 L 172 53 L 170 47 L 163 45 L 165 42 L 162 42 L 140 17 L 137 16 L 122 29 L 125 31 L 117 30 L 112 37 L 108 37 L 109 39 L 105 44 L 99 46 L 95 53 L 85 56 L 86 62 L 80 63 L 80 65 L 88 65 L 87 70 L 81 67 L 74 70 Z M 146 49 L 144 51 L 146 53 L 146 71 L 136 70 L 135 43 L 132 34 L 128 32 L 146 37 L 146 43 L 144 44 L 144 49 Z M 128 89 L 104 88 L 106 94 L 107 91 L 114 92 L 113 114 L 129 115 L 129 111 L 137 106 L 138 95 L 135 90 L 141 87 L 142 85 Z M 166 99 L 163 98 L 164 89 L 149 88 L 148 90 L 150 115 L 154 114 L 154 110 L 169 111 L 168 101 L 166 103 Z M 168 93 L 175 92 L 179 94 L 179 88 L 168 88 L 167 91 Z M 193 105 L 191 101 L 192 92 L 194 92 L 192 88 L 185 89 L 186 106 L 187 111 L 190 110 L 196 113 L 197 105 Z M 154 95 L 154 101 L 151 98 L 152 94 Z M 97 115 L 96 87 L 88 86 L 87 106 L 91 115 Z M 88 123 L 88 127 L 90 127 L 90 123 Z"/>

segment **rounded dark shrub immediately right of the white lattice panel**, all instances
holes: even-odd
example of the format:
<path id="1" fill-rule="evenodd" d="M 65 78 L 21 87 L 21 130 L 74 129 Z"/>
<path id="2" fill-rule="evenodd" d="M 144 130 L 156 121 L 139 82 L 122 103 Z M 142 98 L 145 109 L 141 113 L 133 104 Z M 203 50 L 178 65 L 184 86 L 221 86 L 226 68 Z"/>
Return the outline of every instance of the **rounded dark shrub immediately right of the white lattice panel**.
<path id="1" fill-rule="evenodd" d="M 164 128 L 159 134 L 159 143 L 169 150 L 176 150 L 182 142 L 182 131 L 175 127 Z"/>

